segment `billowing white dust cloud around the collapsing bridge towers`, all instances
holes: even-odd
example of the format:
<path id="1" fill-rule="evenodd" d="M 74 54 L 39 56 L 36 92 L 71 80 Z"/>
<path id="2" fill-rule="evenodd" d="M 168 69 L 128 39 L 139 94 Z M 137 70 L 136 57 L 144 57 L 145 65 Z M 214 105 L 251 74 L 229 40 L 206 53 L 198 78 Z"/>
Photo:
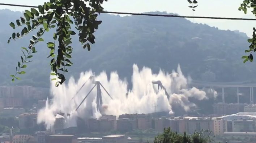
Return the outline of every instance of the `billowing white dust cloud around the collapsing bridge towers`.
<path id="1" fill-rule="evenodd" d="M 55 83 L 51 82 L 50 93 L 52 100 L 47 100 L 46 107 L 38 113 L 38 123 L 44 123 L 47 128 L 54 125 L 55 116 L 58 112 L 65 113 L 66 127 L 76 126 L 76 118 L 82 119 L 99 118 L 101 113 L 97 110 L 96 95 L 97 89 L 94 88 L 86 100 L 81 104 L 80 108 L 76 108 L 81 103 L 83 98 L 88 94 L 94 86 L 91 80 L 85 83 L 89 77 L 93 75 L 92 71 L 80 74 L 80 78 L 75 81 L 70 78 L 68 82 L 59 87 L 55 87 Z M 102 72 L 95 76 L 96 81 L 101 84 L 110 93 L 113 100 L 108 94 L 102 91 L 102 109 L 104 114 L 116 115 L 121 114 L 147 114 L 155 110 L 166 111 L 169 114 L 174 114 L 172 107 L 180 106 L 183 110 L 189 111 L 191 107 L 195 107 L 194 103 L 189 102 L 189 97 L 194 97 L 197 100 L 208 99 L 206 93 L 195 87 L 188 89 L 187 84 L 189 80 L 182 74 L 180 66 L 176 72 L 173 70 L 171 74 L 159 70 L 158 74 L 152 73 L 150 68 L 138 68 L 136 64 L 133 65 L 132 75 L 132 89 L 128 91 L 128 82 L 119 78 L 117 72 L 112 72 L 108 80 L 107 74 Z M 153 81 L 160 80 L 165 87 L 167 93 L 170 95 L 168 100 L 165 90 L 157 85 L 153 85 Z M 76 94 L 76 92 L 84 87 Z M 72 99 L 73 98 L 73 99 Z M 156 105 L 156 107 L 154 107 Z"/>

